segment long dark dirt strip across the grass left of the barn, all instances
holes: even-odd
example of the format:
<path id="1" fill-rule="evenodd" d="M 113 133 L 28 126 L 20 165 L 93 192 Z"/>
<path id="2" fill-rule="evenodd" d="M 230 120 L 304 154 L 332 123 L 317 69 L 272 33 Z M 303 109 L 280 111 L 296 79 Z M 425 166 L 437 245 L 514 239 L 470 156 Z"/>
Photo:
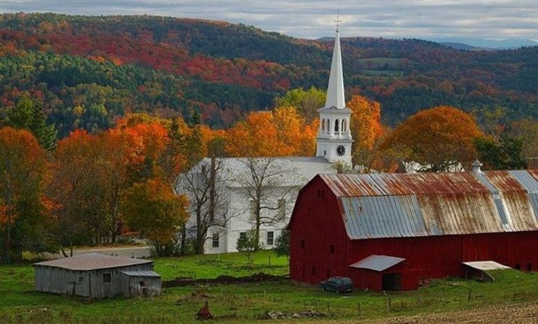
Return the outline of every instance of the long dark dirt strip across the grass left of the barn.
<path id="1" fill-rule="evenodd" d="M 237 283 L 261 283 L 266 281 L 279 281 L 286 279 L 288 276 L 275 276 L 273 274 L 264 274 L 258 272 L 250 276 L 217 276 L 214 279 L 192 279 L 177 278 L 174 280 L 163 281 L 163 288 L 183 287 L 188 285 L 228 285 Z"/>

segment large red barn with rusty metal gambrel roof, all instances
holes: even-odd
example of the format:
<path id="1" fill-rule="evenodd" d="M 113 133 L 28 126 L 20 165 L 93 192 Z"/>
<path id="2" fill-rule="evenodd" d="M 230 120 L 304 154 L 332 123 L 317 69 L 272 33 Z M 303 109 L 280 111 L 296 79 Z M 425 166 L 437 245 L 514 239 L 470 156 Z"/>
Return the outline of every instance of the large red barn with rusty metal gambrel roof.
<path id="1" fill-rule="evenodd" d="M 538 170 L 318 175 L 290 220 L 290 276 L 412 290 L 468 261 L 538 267 Z M 473 263 L 471 263 L 473 264 Z"/>

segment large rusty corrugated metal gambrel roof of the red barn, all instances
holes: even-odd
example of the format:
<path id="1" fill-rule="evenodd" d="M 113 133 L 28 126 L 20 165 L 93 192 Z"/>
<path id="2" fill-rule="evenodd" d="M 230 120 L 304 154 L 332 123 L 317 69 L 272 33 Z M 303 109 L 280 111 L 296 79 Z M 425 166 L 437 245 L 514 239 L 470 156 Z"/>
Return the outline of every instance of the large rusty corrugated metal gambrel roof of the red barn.
<path id="1" fill-rule="evenodd" d="M 538 230 L 538 172 L 320 176 L 351 239 Z"/>

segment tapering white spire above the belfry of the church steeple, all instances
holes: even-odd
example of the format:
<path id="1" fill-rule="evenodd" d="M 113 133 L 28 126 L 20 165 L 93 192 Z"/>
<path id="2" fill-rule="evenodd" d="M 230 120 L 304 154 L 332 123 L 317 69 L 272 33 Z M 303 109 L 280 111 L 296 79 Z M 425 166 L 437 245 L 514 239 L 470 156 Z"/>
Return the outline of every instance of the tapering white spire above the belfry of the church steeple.
<path id="1" fill-rule="evenodd" d="M 329 85 L 327 87 L 327 100 L 325 108 L 336 107 L 346 108 L 346 99 L 343 96 L 343 73 L 342 55 L 340 52 L 340 32 L 337 30 L 335 37 L 335 50 L 332 52 L 332 63 L 330 65 Z"/>

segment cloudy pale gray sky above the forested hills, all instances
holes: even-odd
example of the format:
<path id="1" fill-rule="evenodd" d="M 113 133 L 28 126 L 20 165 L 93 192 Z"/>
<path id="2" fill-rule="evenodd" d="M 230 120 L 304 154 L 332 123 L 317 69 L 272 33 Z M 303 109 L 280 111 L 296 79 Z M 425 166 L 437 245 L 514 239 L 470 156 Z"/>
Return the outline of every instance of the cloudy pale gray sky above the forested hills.
<path id="1" fill-rule="evenodd" d="M 293 37 L 538 40 L 538 0 L 0 0 L 0 12 L 157 14 L 254 25 Z"/>

